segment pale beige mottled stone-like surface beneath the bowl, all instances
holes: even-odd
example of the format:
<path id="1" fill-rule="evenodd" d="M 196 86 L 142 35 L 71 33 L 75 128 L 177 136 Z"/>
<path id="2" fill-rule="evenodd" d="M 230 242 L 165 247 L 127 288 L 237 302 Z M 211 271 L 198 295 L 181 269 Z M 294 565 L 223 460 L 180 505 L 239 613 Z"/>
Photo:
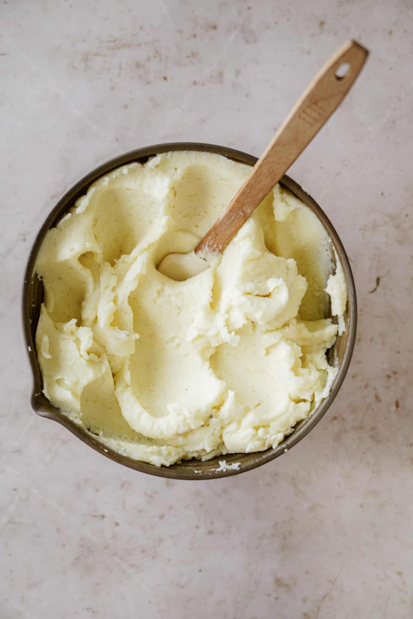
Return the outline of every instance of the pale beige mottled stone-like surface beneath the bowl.
<path id="1" fill-rule="evenodd" d="M 412 617 L 411 2 L 88 5 L 0 6 L 0 616 Z M 350 36 L 372 57 L 291 171 L 333 220 L 359 295 L 352 365 L 320 425 L 261 469 L 172 482 L 32 413 L 20 280 L 56 199 L 140 145 L 258 155 Z"/>

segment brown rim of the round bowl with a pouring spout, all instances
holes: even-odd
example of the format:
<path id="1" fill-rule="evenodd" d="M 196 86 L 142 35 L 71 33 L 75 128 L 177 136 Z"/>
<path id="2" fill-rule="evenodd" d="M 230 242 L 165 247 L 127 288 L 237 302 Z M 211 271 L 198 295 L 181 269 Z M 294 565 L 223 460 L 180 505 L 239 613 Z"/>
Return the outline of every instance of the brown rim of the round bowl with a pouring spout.
<path id="1" fill-rule="evenodd" d="M 214 154 L 224 155 L 224 157 L 230 158 L 237 162 L 246 163 L 248 165 L 254 165 L 254 163 L 256 163 L 256 161 L 258 160 L 257 157 L 249 155 L 240 150 L 216 144 L 207 144 L 204 142 L 165 142 L 163 144 L 154 144 L 139 149 L 129 150 L 128 152 L 117 155 L 116 157 L 111 158 L 102 165 L 94 168 L 92 171 L 87 173 L 87 175 L 77 181 L 77 183 L 75 183 L 68 191 L 66 191 L 66 193 L 59 199 L 59 201 L 56 203 L 56 206 L 53 207 L 53 209 L 50 211 L 50 213 L 46 216 L 45 220 L 41 224 L 41 227 L 38 230 L 37 235 L 35 236 L 35 240 L 32 243 L 32 248 L 30 249 L 30 253 L 28 254 L 27 264 L 24 270 L 21 297 L 21 319 L 25 349 L 28 355 L 30 370 L 32 372 L 32 394 L 30 397 L 30 404 L 32 405 L 32 409 L 38 415 L 40 415 L 40 417 L 46 417 L 60 423 L 65 428 L 67 428 L 67 430 L 71 431 L 72 434 L 77 436 L 77 438 L 79 438 L 88 446 L 92 447 L 92 449 L 95 449 L 95 451 L 100 452 L 100 454 L 102 454 L 103 456 L 106 456 L 111 460 L 118 462 L 119 464 L 123 464 L 129 469 L 138 470 L 142 473 L 146 473 L 149 475 L 155 475 L 156 477 L 164 477 L 170 479 L 208 480 L 220 477 L 231 477 L 232 475 L 238 475 L 248 470 L 255 469 L 256 467 L 266 464 L 266 462 L 269 462 L 281 456 L 282 454 L 284 454 L 284 452 L 288 451 L 295 444 L 301 441 L 304 436 L 306 436 L 308 432 L 310 432 L 310 430 L 312 430 L 315 425 L 320 422 L 321 418 L 324 416 L 330 405 L 333 403 L 334 398 L 337 396 L 337 393 L 342 385 L 342 382 L 344 381 L 347 370 L 349 368 L 350 359 L 354 350 L 355 335 L 357 330 L 357 300 L 354 278 L 352 275 L 349 259 L 333 224 L 328 219 L 323 209 L 321 209 L 321 207 L 305 191 L 305 189 L 303 189 L 296 181 L 290 178 L 290 176 L 284 175 L 282 180 L 280 180 L 280 184 L 282 184 L 282 186 L 284 186 L 285 188 L 289 189 L 293 194 L 295 194 L 295 196 L 302 200 L 306 204 L 306 206 L 310 207 L 310 209 L 315 212 L 323 227 L 328 232 L 331 243 L 333 244 L 336 254 L 341 262 L 347 285 L 348 324 L 346 327 L 347 339 L 344 347 L 344 353 L 342 355 L 341 363 L 339 364 L 339 371 L 337 372 L 336 378 L 334 379 L 328 397 L 326 397 L 326 399 L 321 402 L 320 406 L 318 406 L 309 417 L 300 422 L 300 427 L 293 430 L 292 433 L 286 438 L 284 438 L 284 440 L 276 448 L 267 449 L 266 451 L 253 452 L 251 454 L 222 454 L 221 456 L 215 456 L 213 459 L 204 461 L 202 463 L 199 460 L 191 460 L 183 461 L 181 462 L 181 464 L 173 464 L 170 466 L 162 465 L 160 467 L 149 464 L 147 462 L 134 460 L 133 458 L 128 456 L 123 456 L 119 452 L 105 446 L 105 444 L 100 443 L 100 441 L 95 438 L 95 435 L 86 430 L 84 426 L 77 424 L 69 417 L 67 417 L 64 413 L 61 413 L 46 399 L 42 391 L 43 381 L 37 361 L 35 341 L 33 341 L 32 326 L 30 324 L 29 303 L 32 303 L 32 296 L 30 292 L 32 290 L 31 282 L 33 277 L 35 276 L 34 264 L 37 258 L 38 250 L 41 243 L 43 242 L 46 232 L 48 232 L 51 227 L 56 225 L 56 223 L 59 219 L 61 219 L 64 213 L 73 206 L 77 197 L 84 195 L 90 184 L 100 178 L 100 176 L 103 176 L 111 170 L 121 167 L 122 165 L 127 165 L 135 161 L 142 162 L 142 160 L 147 160 L 150 157 L 154 157 L 155 155 L 159 155 L 165 152 L 173 152 L 175 150 L 196 150 L 200 152 L 212 152 Z M 245 456 L 249 456 L 249 458 L 247 461 L 243 462 L 243 457 Z M 230 470 L 220 470 L 220 468 L 212 468 L 211 464 L 217 465 L 219 459 L 225 460 L 227 464 L 233 464 L 239 461 L 240 465 L 238 469 Z M 197 466 L 205 466 L 208 464 L 209 467 L 206 470 L 201 470 L 201 472 L 197 472 L 199 470 L 196 468 Z"/>

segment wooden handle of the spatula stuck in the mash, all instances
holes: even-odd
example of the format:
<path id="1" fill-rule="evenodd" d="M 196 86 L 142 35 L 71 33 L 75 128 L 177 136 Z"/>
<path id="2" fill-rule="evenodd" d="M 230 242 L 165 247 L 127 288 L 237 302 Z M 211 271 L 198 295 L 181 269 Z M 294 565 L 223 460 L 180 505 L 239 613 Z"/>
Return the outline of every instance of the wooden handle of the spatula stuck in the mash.
<path id="1" fill-rule="evenodd" d="M 284 176 L 346 97 L 367 56 L 368 51 L 362 45 L 348 41 L 321 69 L 256 162 L 227 209 L 196 246 L 195 253 L 198 256 L 207 259 L 208 256 L 211 258 L 211 254 L 224 251 L 241 225 Z"/>

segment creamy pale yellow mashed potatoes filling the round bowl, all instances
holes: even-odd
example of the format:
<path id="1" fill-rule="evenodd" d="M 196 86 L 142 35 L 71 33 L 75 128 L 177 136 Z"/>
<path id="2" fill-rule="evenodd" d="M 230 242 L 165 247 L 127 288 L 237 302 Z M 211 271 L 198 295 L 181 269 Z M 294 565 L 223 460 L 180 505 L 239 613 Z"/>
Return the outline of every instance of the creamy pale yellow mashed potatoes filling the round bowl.
<path id="1" fill-rule="evenodd" d="M 201 152 L 131 163 L 41 245 L 45 395 L 124 455 L 168 465 L 271 448 L 329 393 L 338 327 L 326 316 L 331 296 L 344 329 L 346 285 L 288 191 L 274 188 L 216 266 L 185 282 L 156 269 L 196 246 L 249 171 Z"/>

